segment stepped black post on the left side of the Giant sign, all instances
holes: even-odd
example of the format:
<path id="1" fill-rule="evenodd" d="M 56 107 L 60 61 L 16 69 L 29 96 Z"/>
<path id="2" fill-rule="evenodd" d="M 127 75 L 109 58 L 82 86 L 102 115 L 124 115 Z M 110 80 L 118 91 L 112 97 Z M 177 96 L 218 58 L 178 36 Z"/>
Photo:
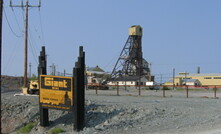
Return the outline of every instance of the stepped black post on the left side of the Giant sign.
<path id="1" fill-rule="evenodd" d="M 39 65 L 38 65 L 38 81 L 40 82 L 40 75 L 46 75 L 47 74 L 47 60 L 46 60 L 46 54 L 45 54 L 45 47 L 42 47 L 42 50 L 40 52 L 39 56 Z M 40 86 L 40 85 L 39 85 Z M 40 94 L 41 90 L 39 90 Z M 40 101 L 40 95 L 39 95 L 39 101 Z M 39 112 L 40 112 L 40 125 L 45 127 L 49 126 L 49 117 L 48 117 L 48 109 L 42 108 L 39 102 Z"/>

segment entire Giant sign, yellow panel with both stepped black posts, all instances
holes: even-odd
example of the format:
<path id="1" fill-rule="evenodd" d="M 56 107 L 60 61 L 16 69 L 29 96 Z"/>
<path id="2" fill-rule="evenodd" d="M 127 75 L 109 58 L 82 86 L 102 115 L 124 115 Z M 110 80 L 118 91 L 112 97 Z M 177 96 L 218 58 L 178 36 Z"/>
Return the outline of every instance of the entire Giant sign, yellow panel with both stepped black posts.
<path id="1" fill-rule="evenodd" d="M 46 75 L 45 48 L 39 56 L 39 109 L 40 125 L 49 126 L 48 109 L 72 111 L 75 131 L 83 130 L 85 120 L 85 52 L 80 47 L 80 56 L 73 69 L 73 77 Z"/>

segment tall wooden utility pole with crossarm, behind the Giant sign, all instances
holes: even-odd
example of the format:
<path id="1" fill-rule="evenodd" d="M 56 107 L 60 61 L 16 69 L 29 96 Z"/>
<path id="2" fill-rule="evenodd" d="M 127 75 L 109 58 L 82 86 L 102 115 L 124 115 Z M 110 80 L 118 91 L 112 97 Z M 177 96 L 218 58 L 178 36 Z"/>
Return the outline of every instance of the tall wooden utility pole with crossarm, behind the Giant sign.
<path id="1" fill-rule="evenodd" d="M 28 0 L 26 0 L 26 5 L 12 5 L 12 1 L 10 1 L 10 7 L 21 7 L 26 8 L 26 15 L 25 15 L 25 41 L 24 41 L 24 87 L 27 87 L 27 67 L 28 67 L 28 9 L 29 7 L 41 7 L 41 1 L 39 0 L 39 5 L 29 5 Z"/>

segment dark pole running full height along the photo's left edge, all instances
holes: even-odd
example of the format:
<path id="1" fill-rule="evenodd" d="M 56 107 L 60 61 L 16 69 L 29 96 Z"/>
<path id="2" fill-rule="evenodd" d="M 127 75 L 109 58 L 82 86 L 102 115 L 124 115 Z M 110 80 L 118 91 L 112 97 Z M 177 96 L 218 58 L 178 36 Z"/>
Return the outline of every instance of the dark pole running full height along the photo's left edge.
<path id="1" fill-rule="evenodd" d="M 3 0 L 0 0 L 0 112 L 2 111 L 2 13 L 3 13 Z M 2 118 L 2 113 L 1 116 Z M 0 121 L 0 133 L 2 133 L 2 120 Z"/>

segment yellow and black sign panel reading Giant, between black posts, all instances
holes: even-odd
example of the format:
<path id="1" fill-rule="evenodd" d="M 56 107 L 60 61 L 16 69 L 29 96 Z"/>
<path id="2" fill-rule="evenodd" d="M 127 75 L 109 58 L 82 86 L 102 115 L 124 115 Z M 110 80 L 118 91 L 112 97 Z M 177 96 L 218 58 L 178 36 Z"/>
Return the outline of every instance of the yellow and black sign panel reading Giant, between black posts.
<path id="1" fill-rule="evenodd" d="M 73 78 L 40 76 L 40 105 L 45 108 L 72 110 Z"/>

